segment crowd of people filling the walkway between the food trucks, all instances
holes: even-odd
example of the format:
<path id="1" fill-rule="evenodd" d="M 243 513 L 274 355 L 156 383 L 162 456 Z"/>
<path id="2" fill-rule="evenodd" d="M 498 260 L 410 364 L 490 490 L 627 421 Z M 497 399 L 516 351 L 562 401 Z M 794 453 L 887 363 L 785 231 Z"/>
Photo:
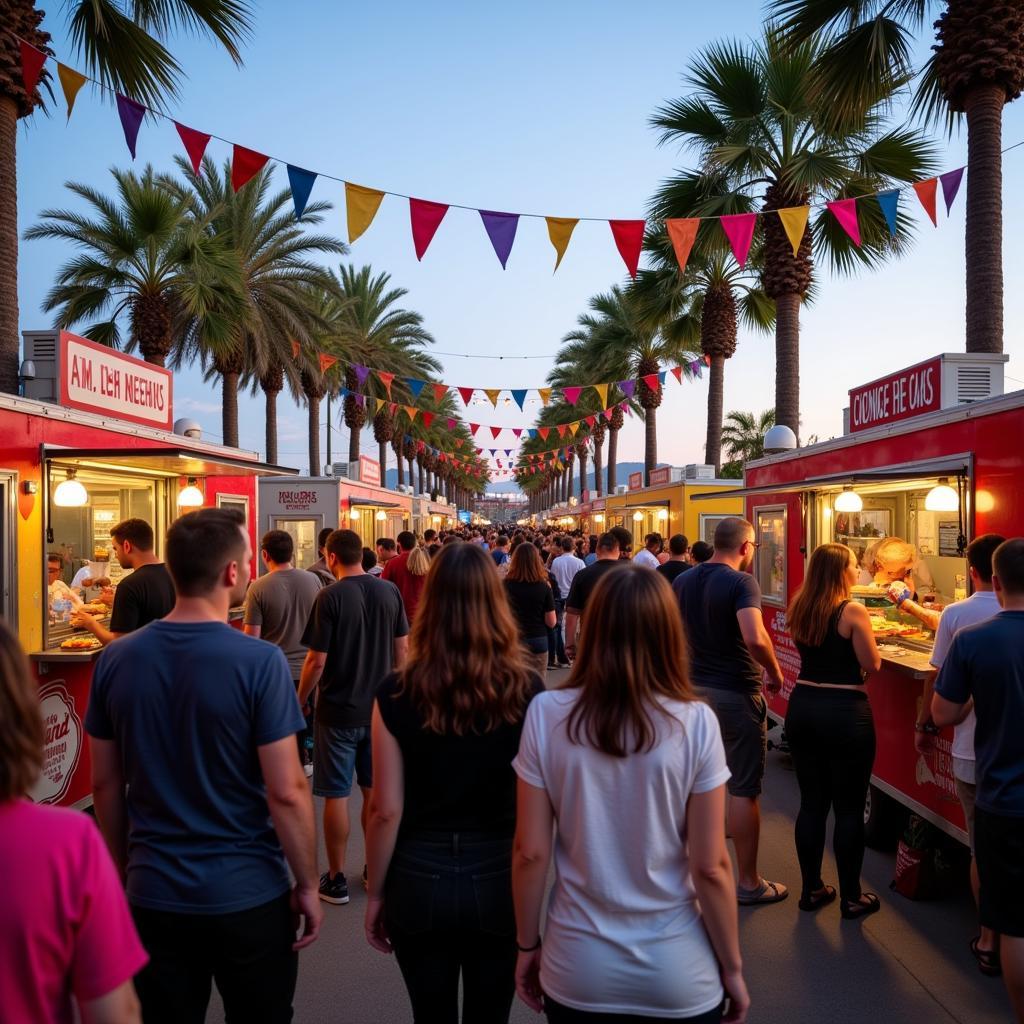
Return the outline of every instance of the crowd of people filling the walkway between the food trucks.
<path id="1" fill-rule="evenodd" d="M 93 623 L 98 829 L 26 797 L 43 725 L 0 623 L 0 872 L 18 880 L 0 914 L 5 1019 L 70 1021 L 74 1005 L 86 1024 L 198 1024 L 215 983 L 228 1021 L 291 1020 L 323 904 L 350 898 L 356 785 L 367 940 L 395 956 L 416 1021 L 457 1021 L 460 987 L 467 1022 L 507 1021 L 516 993 L 554 1024 L 746 1019 L 737 906 L 788 896 L 759 857 L 765 694 L 783 676 L 750 522 L 722 520 L 713 546 L 651 534 L 636 554 L 622 527 L 373 547 L 325 530 L 309 569 L 270 530 L 254 580 L 230 510 L 175 520 L 165 562 L 140 520 L 112 537 L 134 571 L 108 595 L 110 629 Z M 975 593 L 942 613 L 918 741 L 956 726 L 972 949 L 1024 1021 L 1024 539 L 979 538 L 968 559 Z M 848 921 L 882 905 L 860 882 L 880 656 L 857 571 L 849 548 L 816 549 L 787 612 L 798 902 L 838 895 Z"/>

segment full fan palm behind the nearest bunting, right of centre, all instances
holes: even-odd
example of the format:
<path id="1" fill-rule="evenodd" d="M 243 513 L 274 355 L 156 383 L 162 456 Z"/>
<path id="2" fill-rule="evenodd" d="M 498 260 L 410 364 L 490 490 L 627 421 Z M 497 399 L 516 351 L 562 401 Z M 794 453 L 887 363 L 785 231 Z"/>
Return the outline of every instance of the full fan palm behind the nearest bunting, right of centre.
<path id="1" fill-rule="evenodd" d="M 823 43 L 784 45 L 769 31 L 759 42 L 715 43 L 690 65 L 694 94 L 658 110 L 652 124 L 663 142 L 694 151 L 707 181 L 691 216 L 757 208 L 763 214 L 877 193 L 926 177 L 935 167 L 926 136 L 901 125 L 883 129 L 882 116 L 898 89 L 890 82 L 862 110 L 838 118 L 817 74 Z M 690 175 L 683 175 L 689 178 Z M 656 202 L 671 199 L 673 182 Z M 689 183 L 686 184 L 689 191 Z M 759 218 L 764 232 L 763 287 L 775 302 L 775 412 L 800 429 L 800 304 L 811 287 L 815 255 L 834 270 L 874 266 L 902 252 L 910 225 L 903 216 L 895 240 L 874 202 L 858 208 L 857 247 L 824 209 L 816 210 L 794 255 L 777 216 Z"/>

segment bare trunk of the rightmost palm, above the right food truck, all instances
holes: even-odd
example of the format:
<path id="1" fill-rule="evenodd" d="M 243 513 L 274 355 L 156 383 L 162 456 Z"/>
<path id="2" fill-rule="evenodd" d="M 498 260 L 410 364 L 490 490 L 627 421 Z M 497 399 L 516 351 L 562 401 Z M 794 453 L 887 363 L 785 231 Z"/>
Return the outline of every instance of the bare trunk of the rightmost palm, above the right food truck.
<path id="1" fill-rule="evenodd" d="M 967 350 L 1002 351 L 1001 85 L 965 98 L 967 114 Z"/>

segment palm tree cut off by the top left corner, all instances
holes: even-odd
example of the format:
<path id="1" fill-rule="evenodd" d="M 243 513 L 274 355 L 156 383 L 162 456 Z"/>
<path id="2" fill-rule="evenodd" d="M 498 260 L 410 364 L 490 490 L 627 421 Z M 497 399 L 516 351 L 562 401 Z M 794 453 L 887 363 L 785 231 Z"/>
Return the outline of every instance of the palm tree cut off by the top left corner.
<path id="1" fill-rule="evenodd" d="M 127 10 L 126 10 L 127 8 Z M 71 0 L 63 5 L 70 36 L 86 70 L 104 85 L 148 106 L 177 94 L 180 65 L 163 45 L 187 25 L 215 39 L 237 63 L 250 34 L 248 0 Z M 17 121 L 44 105 L 40 88 L 50 88 L 44 71 L 39 87 L 27 92 L 18 40 L 46 53 L 49 34 L 39 28 L 43 11 L 33 0 L 6 0 L 0 33 L 0 391 L 17 392 Z"/>

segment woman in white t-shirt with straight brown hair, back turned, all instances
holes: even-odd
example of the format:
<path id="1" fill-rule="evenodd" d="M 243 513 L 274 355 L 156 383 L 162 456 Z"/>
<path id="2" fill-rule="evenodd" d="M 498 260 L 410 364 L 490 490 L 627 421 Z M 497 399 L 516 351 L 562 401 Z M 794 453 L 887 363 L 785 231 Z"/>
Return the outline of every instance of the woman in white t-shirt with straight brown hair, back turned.
<path id="1" fill-rule="evenodd" d="M 729 770 L 662 574 L 606 573 L 578 650 L 565 688 L 530 703 L 513 762 L 516 989 L 552 1024 L 741 1022 L 750 997 L 722 828 Z"/>

